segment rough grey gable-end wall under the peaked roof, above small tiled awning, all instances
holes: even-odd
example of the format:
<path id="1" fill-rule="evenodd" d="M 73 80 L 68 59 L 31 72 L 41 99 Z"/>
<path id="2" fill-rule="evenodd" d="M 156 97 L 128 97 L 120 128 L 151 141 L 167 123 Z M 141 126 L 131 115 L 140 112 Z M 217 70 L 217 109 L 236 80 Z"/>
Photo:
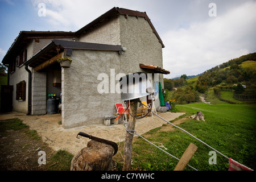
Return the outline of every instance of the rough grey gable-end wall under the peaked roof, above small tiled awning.
<path id="1" fill-rule="evenodd" d="M 163 67 L 163 56 L 162 56 L 162 44 L 159 43 L 158 38 L 152 31 L 150 24 L 147 20 L 135 16 L 119 16 L 120 23 L 120 39 L 122 47 L 126 47 L 127 50 L 123 52 L 121 57 L 121 72 L 135 73 L 135 72 L 146 72 L 141 69 L 139 64 L 156 65 Z M 155 79 L 158 77 L 158 79 Z M 160 81 L 163 86 L 163 75 L 155 75 L 152 73 L 152 86 L 154 88 L 154 82 Z M 146 100 L 142 98 L 141 100 Z M 160 106 L 158 95 L 155 100 L 155 107 Z"/>

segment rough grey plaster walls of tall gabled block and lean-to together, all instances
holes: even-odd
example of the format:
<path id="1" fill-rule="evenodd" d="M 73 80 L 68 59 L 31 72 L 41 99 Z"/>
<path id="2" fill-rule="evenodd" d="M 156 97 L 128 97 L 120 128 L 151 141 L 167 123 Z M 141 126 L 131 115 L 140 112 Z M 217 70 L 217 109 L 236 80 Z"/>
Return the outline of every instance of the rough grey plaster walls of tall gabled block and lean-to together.
<path id="1" fill-rule="evenodd" d="M 116 113 L 114 104 L 121 102 L 120 94 L 110 93 L 110 89 L 109 93 L 98 93 L 97 86 L 102 81 L 97 80 L 100 73 L 106 73 L 110 79 L 110 69 L 114 69 L 114 75 L 127 75 L 141 71 L 150 73 L 139 68 L 140 63 L 163 67 L 162 44 L 144 18 L 117 16 L 82 35 L 79 41 L 121 44 L 127 50 L 122 55 L 110 51 L 73 50 L 71 68 L 63 69 L 61 78 L 62 122 L 65 129 L 103 123 L 106 115 Z M 153 74 L 151 81 L 152 84 L 161 81 L 163 85 L 163 75 L 159 74 L 155 79 Z M 146 100 L 146 97 L 141 100 Z M 156 99 L 155 107 L 159 105 L 159 99 Z"/>

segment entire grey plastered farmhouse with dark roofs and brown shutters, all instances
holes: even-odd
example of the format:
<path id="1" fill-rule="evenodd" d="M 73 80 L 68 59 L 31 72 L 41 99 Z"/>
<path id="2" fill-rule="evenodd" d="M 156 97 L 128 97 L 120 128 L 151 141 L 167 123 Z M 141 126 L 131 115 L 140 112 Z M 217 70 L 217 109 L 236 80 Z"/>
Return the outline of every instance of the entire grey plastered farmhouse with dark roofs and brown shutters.
<path id="1" fill-rule="evenodd" d="M 112 88 L 123 75 L 151 73 L 152 86 L 163 85 L 163 74 L 170 72 L 162 69 L 162 48 L 145 12 L 118 7 L 76 32 L 20 31 L 2 60 L 13 86 L 13 110 L 47 114 L 48 95 L 55 94 L 61 96 L 64 129 L 102 123 L 121 103 L 118 89 Z M 70 68 L 61 68 L 57 60 L 63 57 L 72 60 Z M 102 74 L 109 77 L 109 92 L 99 92 Z M 158 95 L 154 104 L 160 105 Z"/>

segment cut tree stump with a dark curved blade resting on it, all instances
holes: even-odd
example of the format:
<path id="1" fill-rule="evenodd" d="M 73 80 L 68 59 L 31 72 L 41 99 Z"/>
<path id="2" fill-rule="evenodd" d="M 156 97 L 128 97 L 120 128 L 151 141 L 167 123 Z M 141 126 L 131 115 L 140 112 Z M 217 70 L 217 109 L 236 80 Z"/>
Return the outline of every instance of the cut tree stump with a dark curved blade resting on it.
<path id="1" fill-rule="evenodd" d="M 90 140 L 71 161 L 71 171 L 114 171 L 114 148 L 109 144 Z"/>

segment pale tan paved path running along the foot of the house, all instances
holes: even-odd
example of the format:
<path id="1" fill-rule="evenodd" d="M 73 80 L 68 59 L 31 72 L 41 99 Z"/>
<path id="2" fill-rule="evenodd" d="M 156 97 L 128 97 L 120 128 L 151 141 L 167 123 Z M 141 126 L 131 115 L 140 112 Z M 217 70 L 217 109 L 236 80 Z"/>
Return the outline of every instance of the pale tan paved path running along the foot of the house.
<path id="1" fill-rule="evenodd" d="M 167 119 L 167 121 L 171 121 L 183 114 L 184 113 L 171 112 L 159 113 L 159 115 Z M 31 130 L 36 130 L 40 137 L 42 137 L 43 142 L 48 144 L 52 150 L 67 150 L 71 152 L 71 154 L 77 154 L 89 141 L 88 138 L 76 138 L 80 131 L 114 142 L 122 142 L 125 139 L 126 133 L 122 123 L 118 125 L 112 124 L 110 126 L 101 124 L 77 127 L 74 129 L 63 129 L 63 127 L 58 124 L 58 122 L 61 121 L 60 114 L 27 116 L 23 113 L 12 112 L 0 115 L 0 120 L 10 118 L 19 118 L 23 123 L 28 125 Z M 166 122 L 156 116 L 137 119 L 135 130 L 138 134 L 144 134 L 151 129 L 162 126 L 164 123 Z"/>

